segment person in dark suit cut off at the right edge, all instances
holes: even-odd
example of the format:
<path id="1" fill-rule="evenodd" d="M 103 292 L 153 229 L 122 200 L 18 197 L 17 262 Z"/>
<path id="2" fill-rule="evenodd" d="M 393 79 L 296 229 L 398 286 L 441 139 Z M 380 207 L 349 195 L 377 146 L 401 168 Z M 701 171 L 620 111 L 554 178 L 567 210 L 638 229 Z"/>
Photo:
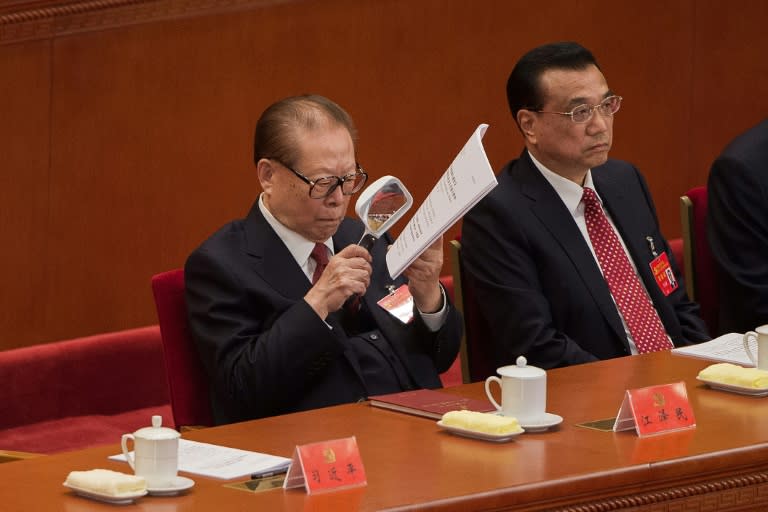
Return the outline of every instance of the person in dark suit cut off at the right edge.
<path id="1" fill-rule="evenodd" d="M 723 150 L 707 195 L 707 239 L 720 269 L 720 330 L 768 324 L 768 119 Z"/>

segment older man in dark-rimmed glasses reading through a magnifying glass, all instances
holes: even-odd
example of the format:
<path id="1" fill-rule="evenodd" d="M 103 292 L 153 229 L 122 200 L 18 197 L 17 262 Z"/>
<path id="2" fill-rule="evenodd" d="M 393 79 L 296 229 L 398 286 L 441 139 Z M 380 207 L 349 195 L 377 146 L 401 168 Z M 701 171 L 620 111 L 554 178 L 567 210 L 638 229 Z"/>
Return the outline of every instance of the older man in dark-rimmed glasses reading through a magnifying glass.
<path id="1" fill-rule="evenodd" d="M 396 280 L 389 236 L 370 253 L 357 245 L 363 224 L 345 214 L 367 175 L 354 141 L 352 119 L 322 96 L 267 108 L 254 142 L 262 194 L 187 260 L 189 325 L 217 423 L 437 388 L 456 358 L 442 239 Z M 406 278 L 410 323 L 377 304 Z"/>

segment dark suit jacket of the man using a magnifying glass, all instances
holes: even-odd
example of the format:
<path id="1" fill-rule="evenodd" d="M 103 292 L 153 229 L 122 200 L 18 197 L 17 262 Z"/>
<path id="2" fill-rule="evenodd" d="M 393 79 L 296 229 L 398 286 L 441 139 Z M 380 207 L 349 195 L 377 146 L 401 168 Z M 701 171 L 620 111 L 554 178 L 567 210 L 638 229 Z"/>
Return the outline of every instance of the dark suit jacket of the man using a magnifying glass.
<path id="1" fill-rule="evenodd" d="M 333 237 L 335 251 L 357 243 L 362 223 L 346 219 Z M 376 304 L 392 284 L 382 237 L 371 249 L 373 274 L 363 300 L 378 331 L 417 387 L 440 387 L 458 352 L 461 318 L 430 332 L 421 317 L 403 325 Z M 254 203 L 248 217 L 221 228 L 185 267 L 189 325 L 210 375 L 217 423 L 355 402 L 368 396 L 343 311 L 321 320 L 303 300 L 311 284 Z M 402 284 L 401 277 L 394 282 Z M 360 341 L 360 340 L 358 340 Z M 399 391 L 399 390 L 393 390 Z"/>

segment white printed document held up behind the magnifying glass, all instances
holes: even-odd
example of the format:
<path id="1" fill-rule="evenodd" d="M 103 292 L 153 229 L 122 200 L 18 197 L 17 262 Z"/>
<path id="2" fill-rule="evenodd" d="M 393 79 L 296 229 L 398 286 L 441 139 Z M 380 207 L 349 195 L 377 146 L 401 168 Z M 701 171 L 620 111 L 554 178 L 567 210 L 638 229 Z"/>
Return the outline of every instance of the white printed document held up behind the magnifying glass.
<path id="1" fill-rule="evenodd" d="M 496 186 L 496 175 L 483 148 L 487 129 L 487 124 L 477 127 L 390 247 L 387 268 L 392 279 Z"/>

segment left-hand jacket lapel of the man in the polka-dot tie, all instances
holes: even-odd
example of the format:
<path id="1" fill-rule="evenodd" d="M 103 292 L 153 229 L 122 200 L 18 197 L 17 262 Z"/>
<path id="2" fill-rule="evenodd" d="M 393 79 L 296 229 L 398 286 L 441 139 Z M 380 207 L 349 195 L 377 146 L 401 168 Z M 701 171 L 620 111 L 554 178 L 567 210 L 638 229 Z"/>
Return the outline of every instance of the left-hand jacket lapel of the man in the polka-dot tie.
<path id="1" fill-rule="evenodd" d="M 571 212 L 568 211 L 555 189 L 533 165 L 527 152 L 520 158 L 518 167 L 521 191 L 531 199 L 531 211 L 573 262 L 584 287 L 589 290 L 616 335 L 619 339 L 626 340 L 624 326 L 616 311 L 616 304 L 608 290 L 608 285 Z"/>

